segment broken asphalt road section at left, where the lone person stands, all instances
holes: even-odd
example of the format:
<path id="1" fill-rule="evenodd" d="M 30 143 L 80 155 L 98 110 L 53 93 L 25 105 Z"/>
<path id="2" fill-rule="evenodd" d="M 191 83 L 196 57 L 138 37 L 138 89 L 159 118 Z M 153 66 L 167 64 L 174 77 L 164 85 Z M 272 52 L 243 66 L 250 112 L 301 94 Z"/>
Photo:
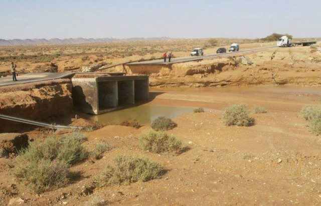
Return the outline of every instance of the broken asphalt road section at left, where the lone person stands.
<path id="1" fill-rule="evenodd" d="M 2 86 L 10 86 L 10 85 L 18 85 L 18 84 L 26 84 L 26 83 L 34 83 L 34 82 L 40 82 L 40 81 L 49 81 L 54 79 L 61 79 L 61 78 L 67 78 L 73 73 L 70 72 L 63 72 L 63 73 L 49 73 L 49 72 L 43 72 L 43 73 L 28 73 L 28 74 L 22 74 L 17 76 L 16 82 L 12 81 L 12 76 L 9 75 L 7 77 L 0 78 L 0 87 Z"/>

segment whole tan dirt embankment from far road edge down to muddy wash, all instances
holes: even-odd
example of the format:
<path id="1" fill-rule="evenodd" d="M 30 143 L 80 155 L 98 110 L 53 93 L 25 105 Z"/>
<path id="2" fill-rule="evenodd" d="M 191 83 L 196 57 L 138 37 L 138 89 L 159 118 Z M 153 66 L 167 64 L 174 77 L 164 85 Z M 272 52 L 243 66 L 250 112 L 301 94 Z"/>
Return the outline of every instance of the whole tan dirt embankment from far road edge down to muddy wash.
<path id="1" fill-rule="evenodd" d="M 271 49 L 246 57 L 174 64 L 172 68 L 156 67 L 149 66 L 147 70 L 154 71 L 149 80 L 154 87 L 321 84 L 321 53 L 309 47 Z"/>

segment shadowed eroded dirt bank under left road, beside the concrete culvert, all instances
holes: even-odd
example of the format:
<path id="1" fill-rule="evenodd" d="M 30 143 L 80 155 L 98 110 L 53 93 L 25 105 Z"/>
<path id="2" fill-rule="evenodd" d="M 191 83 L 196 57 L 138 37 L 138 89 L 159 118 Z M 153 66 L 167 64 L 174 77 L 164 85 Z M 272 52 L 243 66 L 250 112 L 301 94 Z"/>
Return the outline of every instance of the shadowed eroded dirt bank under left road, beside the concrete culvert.
<path id="1" fill-rule="evenodd" d="M 72 112 L 69 79 L 0 88 L 0 114 L 49 122 Z M 0 132 L 13 132 L 26 125 L 0 119 Z"/>

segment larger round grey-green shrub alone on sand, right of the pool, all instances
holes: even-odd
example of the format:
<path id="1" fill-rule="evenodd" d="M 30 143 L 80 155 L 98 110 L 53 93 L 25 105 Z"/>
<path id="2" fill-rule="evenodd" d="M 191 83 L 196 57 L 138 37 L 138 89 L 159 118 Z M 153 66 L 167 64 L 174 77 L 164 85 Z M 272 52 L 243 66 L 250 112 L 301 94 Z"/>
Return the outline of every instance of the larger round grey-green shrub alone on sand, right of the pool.
<path id="1" fill-rule="evenodd" d="M 254 119 L 249 117 L 249 111 L 245 105 L 234 104 L 225 109 L 223 114 L 224 123 L 227 126 L 251 126 Z"/>

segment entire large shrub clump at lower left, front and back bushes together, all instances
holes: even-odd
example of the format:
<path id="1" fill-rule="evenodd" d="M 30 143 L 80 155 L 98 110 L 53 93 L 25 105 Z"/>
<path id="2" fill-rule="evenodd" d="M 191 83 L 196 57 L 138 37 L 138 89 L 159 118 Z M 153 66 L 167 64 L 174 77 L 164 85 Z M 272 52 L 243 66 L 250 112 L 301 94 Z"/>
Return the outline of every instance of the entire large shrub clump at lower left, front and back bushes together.
<path id="1" fill-rule="evenodd" d="M 31 142 L 18 153 L 16 177 L 37 193 L 66 184 L 70 165 L 87 157 L 81 139 L 72 133 L 61 139 L 52 136 L 44 142 Z"/>

